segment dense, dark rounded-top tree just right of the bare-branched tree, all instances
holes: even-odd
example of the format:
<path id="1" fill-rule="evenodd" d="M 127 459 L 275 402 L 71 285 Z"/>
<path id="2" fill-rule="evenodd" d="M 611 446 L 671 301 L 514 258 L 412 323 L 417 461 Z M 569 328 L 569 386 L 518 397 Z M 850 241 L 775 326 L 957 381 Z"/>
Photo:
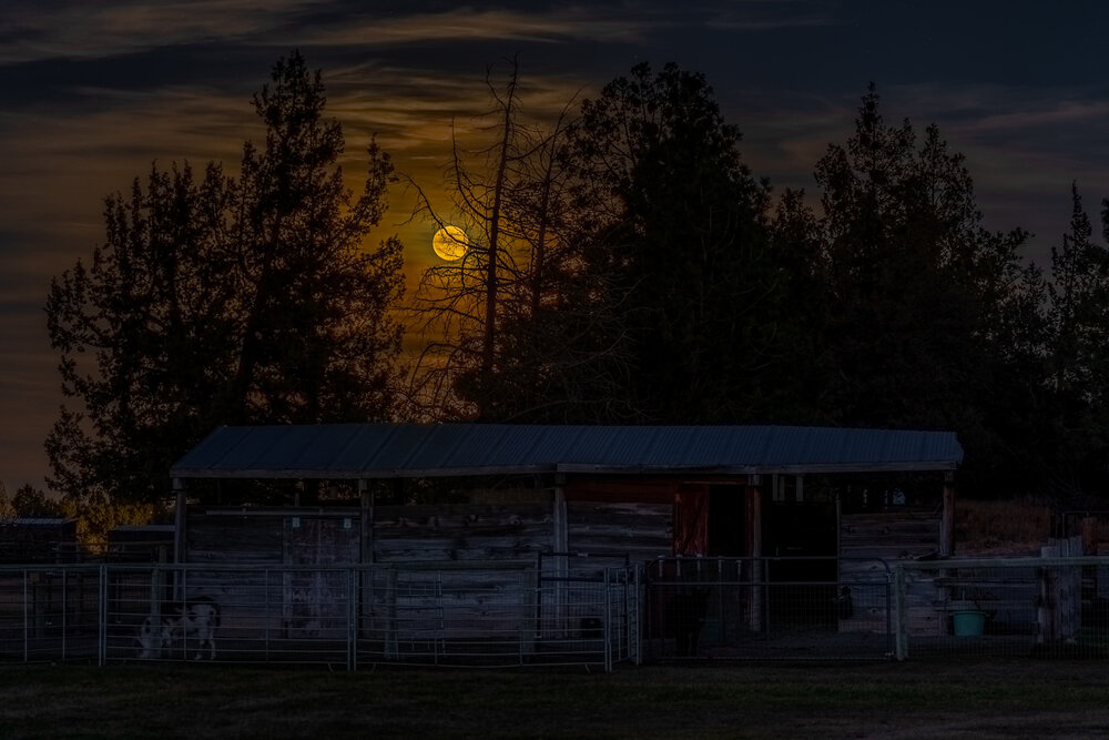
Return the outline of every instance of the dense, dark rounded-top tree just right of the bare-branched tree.
<path id="1" fill-rule="evenodd" d="M 582 104 L 569 166 L 593 303 L 628 349 L 642 420 L 750 420 L 777 346 L 769 187 L 701 74 L 639 64 Z"/>

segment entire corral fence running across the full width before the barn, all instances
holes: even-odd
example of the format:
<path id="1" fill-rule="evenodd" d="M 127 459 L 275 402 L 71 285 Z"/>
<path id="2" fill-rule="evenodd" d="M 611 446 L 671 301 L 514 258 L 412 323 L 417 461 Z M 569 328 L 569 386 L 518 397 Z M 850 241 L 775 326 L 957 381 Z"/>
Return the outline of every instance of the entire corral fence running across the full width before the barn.
<path id="1" fill-rule="evenodd" d="M 1066 551 L 1066 548 L 1062 548 Z M 0 661 L 1109 658 L 1109 557 L 0 566 Z"/>

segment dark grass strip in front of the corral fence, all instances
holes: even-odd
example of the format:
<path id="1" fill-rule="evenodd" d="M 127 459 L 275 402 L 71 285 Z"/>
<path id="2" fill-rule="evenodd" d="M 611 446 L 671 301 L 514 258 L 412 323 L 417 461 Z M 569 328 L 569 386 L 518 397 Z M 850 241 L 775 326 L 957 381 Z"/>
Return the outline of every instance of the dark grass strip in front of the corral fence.
<path id="1" fill-rule="evenodd" d="M 1103 662 L 584 671 L 9 666 L 2 738 L 1105 737 Z"/>

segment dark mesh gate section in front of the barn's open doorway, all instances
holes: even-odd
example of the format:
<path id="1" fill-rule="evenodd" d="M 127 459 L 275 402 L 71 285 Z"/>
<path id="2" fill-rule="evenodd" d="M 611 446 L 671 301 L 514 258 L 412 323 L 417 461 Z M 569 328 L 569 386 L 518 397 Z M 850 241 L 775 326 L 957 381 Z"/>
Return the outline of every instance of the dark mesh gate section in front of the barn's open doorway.
<path id="1" fill-rule="evenodd" d="M 892 572 L 881 560 L 660 558 L 645 569 L 644 652 L 657 659 L 886 659 Z"/>

